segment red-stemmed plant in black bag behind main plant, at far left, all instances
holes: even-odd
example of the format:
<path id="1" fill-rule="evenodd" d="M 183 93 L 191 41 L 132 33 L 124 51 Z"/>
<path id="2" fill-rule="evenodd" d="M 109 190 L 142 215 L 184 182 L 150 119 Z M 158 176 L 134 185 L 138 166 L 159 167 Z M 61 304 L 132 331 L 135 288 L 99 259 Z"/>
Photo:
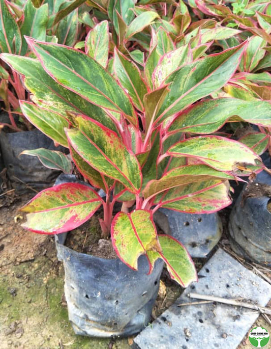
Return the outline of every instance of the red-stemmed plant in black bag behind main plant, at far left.
<path id="1" fill-rule="evenodd" d="M 34 4 L 27 0 L 15 4 L 1 0 L 0 51 L 20 56 L 31 55 L 24 35 L 74 45 L 82 34 L 78 6 L 83 2 L 76 1 L 67 7 L 61 2 Z M 16 189 L 25 189 L 25 185 L 43 189 L 52 183 L 59 172 L 45 169 L 37 158 L 20 154 L 24 150 L 46 148 L 47 154 L 52 152 L 51 156 L 57 156 L 58 153 L 54 151 L 64 149 L 54 145 L 51 139 L 24 118 L 19 100 L 30 100 L 29 94 L 19 74 L 12 71 L 4 61 L 0 61 L 0 77 L 0 98 L 4 104 L 4 111 L 0 115 L 0 146 L 9 178 Z"/>

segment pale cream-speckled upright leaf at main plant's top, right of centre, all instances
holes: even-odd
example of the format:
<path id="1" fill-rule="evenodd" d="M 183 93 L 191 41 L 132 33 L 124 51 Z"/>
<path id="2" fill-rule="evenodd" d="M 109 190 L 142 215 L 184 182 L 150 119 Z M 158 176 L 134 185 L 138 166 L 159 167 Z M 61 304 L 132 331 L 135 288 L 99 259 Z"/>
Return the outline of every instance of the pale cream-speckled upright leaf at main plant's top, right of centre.
<path id="1" fill-rule="evenodd" d="M 181 46 L 174 51 L 165 53 L 159 60 L 155 68 L 152 80 L 154 88 L 162 85 L 164 80 L 178 67 L 193 61 L 192 52 L 189 45 Z"/>

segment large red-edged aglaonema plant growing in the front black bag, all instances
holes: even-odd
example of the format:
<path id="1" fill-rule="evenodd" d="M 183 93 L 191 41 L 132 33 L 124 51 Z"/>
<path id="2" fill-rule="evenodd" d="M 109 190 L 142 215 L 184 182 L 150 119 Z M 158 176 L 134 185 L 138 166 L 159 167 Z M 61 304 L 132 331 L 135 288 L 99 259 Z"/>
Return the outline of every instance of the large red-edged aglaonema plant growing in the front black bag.
<path id="1" fill-rule="evenodd" d="M 104 30 L 108 35 L 106 25 Z M 102 57 L 91 57 L 64 45 L 27 42 L 36 59 L 1 55 L 32 94 L 32 102 L 20 101 L 21 110 L 70 149 L 76 168 L 95 189 L 65 183 L 42 191 L 22 207 L 27 212 L 23 227 L 43 234 L 66 232 L 102 206 L 102 236 L 111 235 L 118 257 L 129 267 L 136 270 L 143 254 L 149 272 L 162 258 L 180 285 L 197 280 L 185 247 L 157 233 L 154 213 L 160 207 L 218 211 L 231 203 L 229 179 L 263 168 L 247 145 L 216 132 L 227 121 L 270 126 L 270 103 L 210 97 L 235 73 L 246 42 L 196 60 L 185 43 L 157 61 L 154 47 L 143 70 L 115 48 L 112 74 L 104 47 Z M 104 190 L 104 199 L 97 189 Z M 122 210 L 113 216 L 117 201 Z"/>

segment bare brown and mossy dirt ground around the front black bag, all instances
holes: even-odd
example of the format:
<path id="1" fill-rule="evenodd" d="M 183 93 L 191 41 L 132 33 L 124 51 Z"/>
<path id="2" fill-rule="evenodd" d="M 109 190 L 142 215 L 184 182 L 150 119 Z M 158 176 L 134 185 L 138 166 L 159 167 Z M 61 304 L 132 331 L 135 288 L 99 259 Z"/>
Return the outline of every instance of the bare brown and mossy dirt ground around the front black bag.
<path id="1" fill-rule="evenodd" d="M 130 348 L 132 338 L 74 335 L 63 293 L 64 270 L 56 258 L 53 236 L 34 234 L 20 227 L 24 216 L 18 208 L 34 195 L 11 192 L 0 197 L 0 349 Z M 200 269 L 203 260 L 197 260 L 196 265 Z M 181 292 L 182 288 L 163 272 L 153 318 Z M 271 332 L 262 316 L 255 326 Z M 238 349 L 251 347 L 245 336 Z"/>

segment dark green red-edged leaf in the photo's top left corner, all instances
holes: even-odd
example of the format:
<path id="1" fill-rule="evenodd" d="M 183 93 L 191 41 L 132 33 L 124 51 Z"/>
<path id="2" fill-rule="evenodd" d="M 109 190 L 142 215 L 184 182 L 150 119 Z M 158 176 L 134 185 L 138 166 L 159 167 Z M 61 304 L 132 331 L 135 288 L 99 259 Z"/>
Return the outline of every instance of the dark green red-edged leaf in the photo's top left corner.
<path id="1" fill-rule="evenodd" d="M 16 20 L 5 0 L 0 0 L 0 52 L 20 53 L 22 39 Z"/>

